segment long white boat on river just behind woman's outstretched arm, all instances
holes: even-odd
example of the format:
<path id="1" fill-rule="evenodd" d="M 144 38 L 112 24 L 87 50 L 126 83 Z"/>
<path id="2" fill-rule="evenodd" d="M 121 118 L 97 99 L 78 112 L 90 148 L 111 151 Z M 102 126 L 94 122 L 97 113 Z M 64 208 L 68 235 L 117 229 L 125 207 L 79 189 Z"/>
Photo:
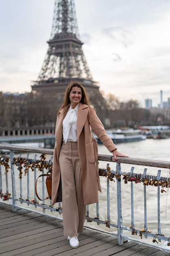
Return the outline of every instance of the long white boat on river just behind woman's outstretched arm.
<path id="1" fill-rule="evenodd" d="M 140 141 L 146 139 L 146 135 L 142 133 L 141 129 L 108 130 L 107 134 L 114 143 Z M 97 143 L 102 143 L 102 141 L 97 136 L 94 137 L 97 140 Z"/>

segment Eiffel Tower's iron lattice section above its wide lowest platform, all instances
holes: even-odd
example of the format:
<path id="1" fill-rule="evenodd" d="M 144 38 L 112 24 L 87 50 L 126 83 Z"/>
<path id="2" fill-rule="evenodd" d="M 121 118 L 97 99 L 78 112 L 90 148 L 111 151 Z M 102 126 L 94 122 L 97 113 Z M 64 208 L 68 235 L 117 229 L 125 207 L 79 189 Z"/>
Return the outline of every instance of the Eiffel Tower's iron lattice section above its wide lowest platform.
<path id="1" fill-rule="evenodd" d="M 55 1 L 49 49 L 38 80 L 92 79 L 79 40 L 73 0 Z"/>

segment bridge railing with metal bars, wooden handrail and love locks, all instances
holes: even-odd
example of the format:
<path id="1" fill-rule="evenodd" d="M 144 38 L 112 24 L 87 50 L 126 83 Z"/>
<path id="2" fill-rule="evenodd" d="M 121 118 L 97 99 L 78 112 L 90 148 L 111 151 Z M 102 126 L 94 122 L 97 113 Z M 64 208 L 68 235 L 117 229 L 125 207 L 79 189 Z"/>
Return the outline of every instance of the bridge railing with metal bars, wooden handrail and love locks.
<path id="1" fill-rule="evenodd" d="M 6 144 L 0 144 L 0 148 L 1 200 L 4 203 L 12 204 L 13 211 L 18 208 L 28 208 L 28 206 L 32 211 L 40 211 L 38 210 L 39 207 L 42 209 L 40 211 L 42 214 L 57 213 L 59 215 L 56 218 L 61 218 L 62 203 L 57 203 L 55 207 L 51 207 L 51 200 L 38 201 L 35 194 L 37 177 L 52 169 L 53 150 Z M 2 150 L 7 150 L 7 152 L 4 153 Z M 16 154 L 15 151 L 20 153 Z M 86 207 L 87 222 L 96 222 L 97 225 L 103 224 L 104 232 L 106 232 L 106 227 L 115 229 L 116 232 L 111 234 L 118 236 L 119 245 L 123 244 L 125 240 L 148 243 L 141 240 L 144 237 L 151 239 L 151 246 L 158 247 L 159 242 L 166 241 L 167 248 L 169 248 L 170 235 L 168 235 L 168 230 L 170 228 L 168 225 L 170 222 L 167 219 L 162 223 L 162 213 L 167 214 L 170 208 L 168 200 L 170 162 L 130 157 L 117 157 L 117 162 L 115 162 L 111 155 L 98 155 L 98 159 L 99 163 L 106 165 L 105 168 L 99 168 L 104 192 L 102 199 L 101 195 L 99 196 L 95 213 L 94 204 Z M 111 165 L 113 165 L 113 170 Z M 134 165 L 139 167 L 137 171 L 134 171 Z M 150 173 L 147 173 L 147 167 L 150 168 Z M 166 175 L 161 176 L 163 170 L 166 170 Z M 42 180 L 39 179 L 38 181 L 38 193 L 42 199 L 47 195 L 44 176 L 42 176 Z M 93 208 L 92 211 L 91 208 Z M 103 217 L 104 219 L 100 216 L 101 208 L 102 216 L 105 213 L 106 218 Z M 152 208 L 154 214 L 150 213 Z M 112 222 L 111 218 L 115 222 Z M 126 225 L 123 225 L 123 220 Z M 150 227 L 154 232 L 149 230 Z M 97 229 L 94 225 L 92 228 Z M 97 230 L 101 231 L 101 229 Z M 164 234 L 164 231 L 167 234 Z M 124 232 L 128 233 L 128 236 Z"/>

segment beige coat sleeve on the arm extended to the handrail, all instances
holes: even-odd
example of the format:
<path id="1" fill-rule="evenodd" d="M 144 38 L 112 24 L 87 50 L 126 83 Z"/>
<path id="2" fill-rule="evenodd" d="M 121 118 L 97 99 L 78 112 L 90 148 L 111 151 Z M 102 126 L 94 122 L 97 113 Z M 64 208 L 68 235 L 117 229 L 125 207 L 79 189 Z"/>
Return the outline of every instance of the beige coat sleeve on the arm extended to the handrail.
<path id="1" fill-rule="evenodd" d="M 113 143 L 112 139 L 108 136 L 106 130 L 100 119 L 97 117 L 95 110 L 89 109 L 88 111 L 89 116 L 89 124 L 97 137 L 102 141 L 104 146 L 112 152 L 113 150 L 117 149 L 115 144 Z"/>

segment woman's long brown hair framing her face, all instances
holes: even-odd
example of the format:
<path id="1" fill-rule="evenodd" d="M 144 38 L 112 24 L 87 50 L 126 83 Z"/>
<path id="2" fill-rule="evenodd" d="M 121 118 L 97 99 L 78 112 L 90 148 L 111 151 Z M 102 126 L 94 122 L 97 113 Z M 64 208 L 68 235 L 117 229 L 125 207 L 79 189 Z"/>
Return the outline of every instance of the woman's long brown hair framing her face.
<path id="1" fill-rule="evenodd" d="M 67 89 L 66 89 L 66 92 L 65 92 L 65 95 L 64 95 L 64 102 L 63 102 L 60 110 L 62 110 L 63 108 L 66 108 L 66 106 L 71 103 L 69 95 L 70 95 L 70 92 L 71 92 L 72 88 L 75 87 L 75 86 L 81 88 L 81 90 L 82 90 L 82 99 L 81 99 L 80 102 L 83 103 L 83 104 L 86 104 L 89 108 L 91 108 L 91 102 L 88 98 L 88 95 L 87 95 L 86 90 L 84 89 L 84 87 L 76 81 L 71 81 L 69 83 Z M 58 111 L 57 115 L 60 114 L 60 110 Z"/>

